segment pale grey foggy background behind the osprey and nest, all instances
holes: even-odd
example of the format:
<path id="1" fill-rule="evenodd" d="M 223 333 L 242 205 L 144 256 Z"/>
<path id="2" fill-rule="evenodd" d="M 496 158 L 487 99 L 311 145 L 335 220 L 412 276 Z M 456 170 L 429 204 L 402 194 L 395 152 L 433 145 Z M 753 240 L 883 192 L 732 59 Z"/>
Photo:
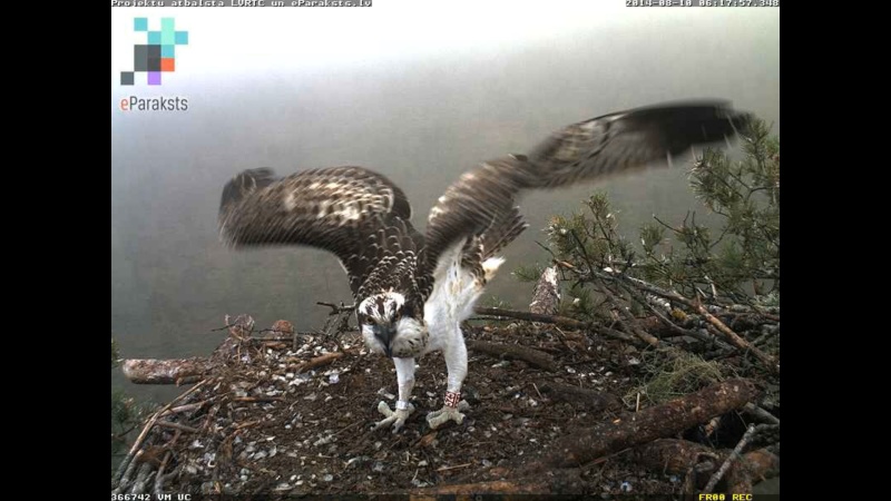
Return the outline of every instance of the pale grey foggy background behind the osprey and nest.
<path id="1" fill-rule="evenodd" d="M 415 3 L 424 3 L 418 6 Z M 336 259 L 307 247 L 234 252 L 217 237 L 236 173 L 361 165 L 400 185 L 422 229 L 429 208 L 477 163 L 525 153 L 570 122 L 665 100 L 724 98 L 780 131 L 780 10 L 625 8 L 624 1 L 396 2 L 371 8 L 111 9 L 111 333 L 124 357 L 207 355 L 223 315 L 322 325 L 316 301 L 351 303 Z M 518 4 L 519 3 L 519 4 Z M 556 3 L 556 4 L 555 4 Z M 160 87 L 119 86 L 133 18 L 188 30 Z M 141 37 L 139 37 L 141 36 Z M 120 111 L 129 96 L 180 97 L 187 111 Z M 657 214 L 706 209 L 673 169 L 520 200 L 530 228 L 482 301 L 527 307 L 510 272 L 547 263 L 542 228 L 609 193 L 636 235 Z M 115 372 L 112 386 L 125 384 Z M 129 390 L 135 387 L 129 385 Z M 144 387 L 163 399 L 178 390 Z"/>

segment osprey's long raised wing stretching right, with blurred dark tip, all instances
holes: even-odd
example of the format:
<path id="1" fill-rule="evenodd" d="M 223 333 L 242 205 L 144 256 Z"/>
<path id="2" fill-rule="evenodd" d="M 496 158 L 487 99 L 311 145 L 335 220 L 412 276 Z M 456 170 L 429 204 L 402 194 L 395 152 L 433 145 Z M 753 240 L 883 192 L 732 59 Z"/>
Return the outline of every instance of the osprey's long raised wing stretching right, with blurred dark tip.
<path id="1" fill-rule="evenodd" d="M 643 168 L 694 145 L 734 136 L 750 120 L 726 101 L 676 102 L 620 111 L 570 125 L 528 156 L 490 160 L 466 173 L 430 210 L 418 268 L 422 294 L 448 248 L 510 220 L 525 189 L 557 188 Z M 512 235 L 516 237 L 516 235 Z M 510 239 L 512 239 L 512 237 Z M 501 240 L 500 245 L 508 242 Z"/>

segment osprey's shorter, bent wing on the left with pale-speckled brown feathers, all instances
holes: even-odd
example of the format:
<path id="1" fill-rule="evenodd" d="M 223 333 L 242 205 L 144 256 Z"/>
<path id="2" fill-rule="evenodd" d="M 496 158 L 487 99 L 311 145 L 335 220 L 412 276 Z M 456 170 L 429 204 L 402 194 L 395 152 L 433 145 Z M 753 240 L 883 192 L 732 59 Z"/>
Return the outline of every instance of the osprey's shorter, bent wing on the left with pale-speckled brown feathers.
<path id="1" fill-rule="evenodd" d="M 276 178 L 245 170 L 229 180 L 219 204 L 219 233 L 232 247 L 310 245 L 334 253 L 359 291 L 388 243 L 414 252 L 422 236 L 409 223 L 405 194 L 362 167 L 305 170 Z"/>

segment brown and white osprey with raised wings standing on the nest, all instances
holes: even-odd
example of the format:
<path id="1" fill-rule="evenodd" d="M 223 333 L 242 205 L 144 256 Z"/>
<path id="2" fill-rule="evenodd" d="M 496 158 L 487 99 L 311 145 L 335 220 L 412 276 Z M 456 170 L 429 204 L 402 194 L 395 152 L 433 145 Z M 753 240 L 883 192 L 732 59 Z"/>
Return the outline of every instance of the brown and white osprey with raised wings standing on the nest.
<path id="1" fill-rule="evenodd" d="M 497 254 L 526 229 L 516 206 L 526 190 L 628 173 L 694 145 L 726 140 L 750 115 L 728 102 L 678 102 L 620 111 L 558 130 L 528 155 L 486 161 L 463 174 L 430 210 L 422 234 L 405 194 L 362 167 L 305 170 L 276 178 L 245 170 L 226 184 L 219 207 L 223 242 L 233 247 L 310 245 L 330 250 L 350 279 L 369 350 L 396 369 L 395 411 L 385 402 L 376 428 L 399 431 L 414 411 L 414 358 L 442 351 L 444 404 L 430 428 L 461 423 L 467 347 L 461 322 L 503 263 Z M 462 407 L 463 409 L 463 407 Z"/>

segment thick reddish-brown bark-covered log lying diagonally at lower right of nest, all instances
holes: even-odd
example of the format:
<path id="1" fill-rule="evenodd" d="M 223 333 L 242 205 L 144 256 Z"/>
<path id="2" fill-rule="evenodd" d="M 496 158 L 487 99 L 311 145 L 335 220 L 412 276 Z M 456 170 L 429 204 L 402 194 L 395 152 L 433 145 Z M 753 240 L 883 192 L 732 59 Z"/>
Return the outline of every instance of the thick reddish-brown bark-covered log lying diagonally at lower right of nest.
<path id="1" fill-rule="evenodd" d="M 582 429 L 557 443 L 548 463 L 572 468 L 624 449 L 672 436 L 742 407 L 757 395 L 746 380 L 728 380 L 623 419 Z"/>

